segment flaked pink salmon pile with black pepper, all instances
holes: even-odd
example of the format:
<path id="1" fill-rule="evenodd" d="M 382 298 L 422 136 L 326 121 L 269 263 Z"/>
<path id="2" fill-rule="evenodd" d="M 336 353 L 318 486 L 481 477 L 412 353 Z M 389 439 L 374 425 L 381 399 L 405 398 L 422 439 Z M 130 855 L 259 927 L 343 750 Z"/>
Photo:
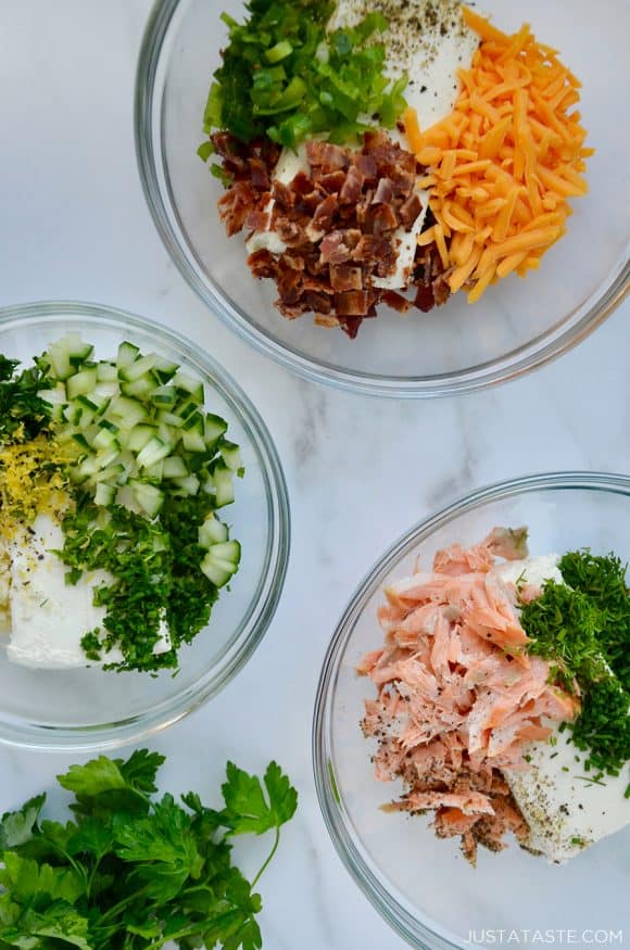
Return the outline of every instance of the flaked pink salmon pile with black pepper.
<path id="1" fill-rule="evenodd" d="M 386 809 L 432 811 L 436 833 L 459 836 L 472 862 L 478 844 L 500 850 L 507 832 L 526 839 L 502 770 L 528 769 L 527 743 L 578 712 L 576 698 L 550 684 L 549 663 L 528 656 L 521 592 L 501 575 L 499 559 L 522 558 L 526 536 L 495 528 L 391 584 L 378 611 L 385 645 L 357 667 L 377 687 L 362 722 L 378 744 L 376 776 L 405 783 Z"/>

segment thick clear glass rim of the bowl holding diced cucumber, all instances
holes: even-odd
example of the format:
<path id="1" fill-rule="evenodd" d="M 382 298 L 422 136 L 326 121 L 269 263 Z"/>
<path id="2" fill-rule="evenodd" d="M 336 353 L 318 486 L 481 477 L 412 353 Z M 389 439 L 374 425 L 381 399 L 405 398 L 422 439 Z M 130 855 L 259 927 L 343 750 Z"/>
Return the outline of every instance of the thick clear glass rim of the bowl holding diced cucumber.
<path id="1" fill-rule="evenodd" d="M 42 726 L 0 720 L 0 745 L 37 751 L 96 751 L 138 743 L 161 732 L 216 696 L 242 669 L 263 639 L 276 612 L 289 563 L 291 518 L 280 459 L 260 413 L 232 377 L 202 347 L 162 324 L 117 307 L 81 301 L 37 301 L 0 307 L 0 333 L 14 325 L 50 325 L 85 320 L 118 329 L 122 337 L 137 330 L 173 347 L 202 367 L 229 405 L 259 456 L 267 507 L 268 540 L 264 570 L 256 591 L 212 669 L 182 693 L 118 722 L 93 726 Z"/>

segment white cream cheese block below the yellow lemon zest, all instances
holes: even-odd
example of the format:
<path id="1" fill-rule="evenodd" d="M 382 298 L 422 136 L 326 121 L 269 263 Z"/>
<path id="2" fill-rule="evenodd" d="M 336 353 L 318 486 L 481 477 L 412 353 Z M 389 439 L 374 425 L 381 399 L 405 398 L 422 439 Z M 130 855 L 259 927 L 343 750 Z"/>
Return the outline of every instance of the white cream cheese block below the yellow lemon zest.
<path id="1" fill-rule="evenodd" d="M 7 654 L 14 663 L 47 669 L 94 666 L 86 659 L 80 641 L 88 631 L 102 629 L 105 609 L 94 607 L 93 587 L 112 579 L 105 571 L 92 571 L 77 584 L 66 584 L 66 569 L 53 554 L 63 541 L 60 524 L 38 515 L 30 529 L 7 543 L 10 567 L 3 573 L 0 569 L 0 618 L 7 619 Z M 169 648 L 168 631 L 162 624 L 154 653 Z M 101 664 L 123 659 L 114 648 L 103 655 Z"/>

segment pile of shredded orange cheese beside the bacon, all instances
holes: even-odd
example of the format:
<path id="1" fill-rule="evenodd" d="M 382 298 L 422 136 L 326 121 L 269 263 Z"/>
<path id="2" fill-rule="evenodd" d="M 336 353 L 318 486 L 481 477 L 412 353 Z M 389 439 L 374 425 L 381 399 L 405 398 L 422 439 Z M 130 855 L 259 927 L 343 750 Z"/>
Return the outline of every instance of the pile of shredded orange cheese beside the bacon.
<path id="1" fill-rule="evenodd" d="M 490 283 L 525 277 L 566 230 L 568 199 L 588 191 L 582 177 L 585 129 L 580 83 L 537 42 L 529 25 L 507 36 L 468 9 L 481 37 L 470 69 L 458 75 L 453 112 L 427 130 L 408 109 L 403 117 L 430 191 L 436 225 L 418 239 L 434 243 L 453 293 L 475 303 Z"/>

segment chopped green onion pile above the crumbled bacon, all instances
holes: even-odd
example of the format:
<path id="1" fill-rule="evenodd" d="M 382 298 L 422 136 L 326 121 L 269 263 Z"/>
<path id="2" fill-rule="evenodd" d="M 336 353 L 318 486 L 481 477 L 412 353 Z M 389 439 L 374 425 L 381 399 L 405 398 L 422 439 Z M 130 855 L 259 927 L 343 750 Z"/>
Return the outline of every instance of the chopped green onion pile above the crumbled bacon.
<path id="1" fill-rule="evenodd" d="M 229 29 L 223 63 L 214 74 L 204 129 L 226 129 L 251 142 L 268 136 L 295 148 L 325 134 L 335 142 L 356 139 L 367 121 L 392 128 L 405 107 L 406 78 L 388 83 L 387 28 L 370 13 L 353 28 L 330 34 L 335 4 L 320 0 L 250 0 L 240 24 L 222 15 Z M 204 161 L 210 152 L 202 145 Z"/>

